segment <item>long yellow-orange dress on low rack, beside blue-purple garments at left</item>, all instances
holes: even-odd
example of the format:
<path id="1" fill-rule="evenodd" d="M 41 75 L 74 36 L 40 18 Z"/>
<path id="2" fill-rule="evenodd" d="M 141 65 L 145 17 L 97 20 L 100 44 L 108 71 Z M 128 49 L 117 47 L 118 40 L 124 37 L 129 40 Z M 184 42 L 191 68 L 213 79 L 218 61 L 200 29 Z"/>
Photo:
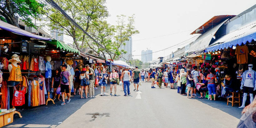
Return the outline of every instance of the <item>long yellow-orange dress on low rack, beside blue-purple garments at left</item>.
<path id="1" fill-rule="evenodd" d="M 32 107 L 39 105 L 39 83 L 38 80 L 32 81 Z"/>

